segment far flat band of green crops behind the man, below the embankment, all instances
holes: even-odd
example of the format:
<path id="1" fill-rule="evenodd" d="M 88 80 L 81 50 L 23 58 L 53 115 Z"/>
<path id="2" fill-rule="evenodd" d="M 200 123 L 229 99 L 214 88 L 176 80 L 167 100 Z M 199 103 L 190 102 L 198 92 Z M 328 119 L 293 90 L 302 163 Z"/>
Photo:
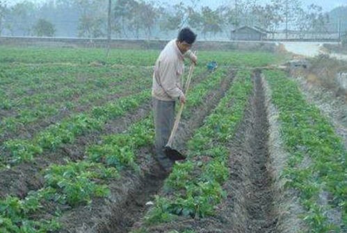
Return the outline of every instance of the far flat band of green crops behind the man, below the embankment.
<path id="1" fill-rule="evenodd" d="M 62 49 L 62 48 L 26 48 L 15 49 L 0 47 L 0 63 L 24 62 L 24 63 L 54 63 L 70 62 L 71 64 L 90 64 L 99 62 L 102 64 L 124 64 L 134 66 L 153 66 L 159 55 L 157 50 L 120 50 L 112 49 L 105 60 L 103 49 Z M 63 54 L 63 56 L 62 56 Z M 220 65 L 232 65 L 234 67 L 260 67 L 278 61 L 279 56 L 266 52 L 241 52 L 234 51 L 201 51 L 199 53 L 199 65 L 205 65 L 215 60 Z"/>

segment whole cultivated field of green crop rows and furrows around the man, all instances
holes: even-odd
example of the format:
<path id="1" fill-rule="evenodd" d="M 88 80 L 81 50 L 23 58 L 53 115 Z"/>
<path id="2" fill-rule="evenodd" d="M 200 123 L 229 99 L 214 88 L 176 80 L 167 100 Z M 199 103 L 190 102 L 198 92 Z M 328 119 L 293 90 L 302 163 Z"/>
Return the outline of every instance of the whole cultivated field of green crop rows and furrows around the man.
<path id="1" fill-rule="evenodd" d="M 0 233 L 347 232 L 344 143 L 274 53 L 199 51 L 164 175 L 159 52 L 0 47 Z"/>

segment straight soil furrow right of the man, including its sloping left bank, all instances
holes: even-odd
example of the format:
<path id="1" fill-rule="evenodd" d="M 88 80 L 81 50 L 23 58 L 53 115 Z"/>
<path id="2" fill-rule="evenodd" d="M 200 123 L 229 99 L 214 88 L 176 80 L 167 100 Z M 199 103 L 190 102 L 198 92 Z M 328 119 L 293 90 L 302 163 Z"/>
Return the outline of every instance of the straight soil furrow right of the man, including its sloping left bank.
<path id="1" fill-rule="evenodd" d="M 260 71 L 255 71 L 255 89 L 245 119 L 230 146 L 230 179 L 227 205 L 220 218 L 230 232 L 277 232 L 273 208 L 273 179 L 268 152 L 268 119 Z"/>

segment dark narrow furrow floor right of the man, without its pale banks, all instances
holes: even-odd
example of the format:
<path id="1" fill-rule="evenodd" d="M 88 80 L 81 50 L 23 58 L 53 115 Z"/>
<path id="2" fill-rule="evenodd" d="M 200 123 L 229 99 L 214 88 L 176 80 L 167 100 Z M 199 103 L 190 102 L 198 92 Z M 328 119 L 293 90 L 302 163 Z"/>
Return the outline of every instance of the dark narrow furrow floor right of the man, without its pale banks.
<path id="1" fill-rule="evenodd" d="M 275 213 L 273 212 L 272 178 L 268 164 L 268 119 L 264 89 L 259 73 L 255 77 L 255 107 L 252 107 L 255 122 L 254 133 L 250 135 L 250 199 L 246 203 L 248 232 L 276 232 Z"/>

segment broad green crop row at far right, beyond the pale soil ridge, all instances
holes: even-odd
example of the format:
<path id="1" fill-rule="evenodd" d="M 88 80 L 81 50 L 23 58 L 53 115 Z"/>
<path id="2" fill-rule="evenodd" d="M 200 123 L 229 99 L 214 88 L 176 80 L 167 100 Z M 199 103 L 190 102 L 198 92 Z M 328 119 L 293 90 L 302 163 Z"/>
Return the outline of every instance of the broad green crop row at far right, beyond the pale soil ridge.
<path id="1" fill-rule="evenodd" d="M 341 226 L 328 220 L 328 212 L 340 209 L 342 227 L 346 227 L 346 149 L 332 124 L 317 107 L 305 101 L 295 82 L 281 71 L 264 74 L 272 90 L 272 101 L 280 112 L 281 136 L 290 155 L 282 174 L 286 187 L 299 191 L 307 211 L 303 219 L 310 232 L 341 232 Z M 318 204 L 323 193 L 330 193 L 325 206 Z"/>

